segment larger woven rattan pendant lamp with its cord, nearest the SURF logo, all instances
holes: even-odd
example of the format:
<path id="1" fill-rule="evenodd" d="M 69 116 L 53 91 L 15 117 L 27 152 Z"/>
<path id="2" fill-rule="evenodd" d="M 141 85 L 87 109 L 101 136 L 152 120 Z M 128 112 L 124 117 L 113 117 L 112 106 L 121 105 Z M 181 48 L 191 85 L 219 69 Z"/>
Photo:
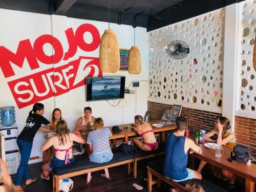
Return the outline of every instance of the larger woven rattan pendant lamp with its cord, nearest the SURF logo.
<path id="1" fill-rule="evenodd" d="M 119 42 L 114 30 L 110 29 L 110 4 L 109 8 L 109 29 L 104 31 L 99 47 L 99 66 L 104 73 L 116 73 L 120 68 Z"/>

